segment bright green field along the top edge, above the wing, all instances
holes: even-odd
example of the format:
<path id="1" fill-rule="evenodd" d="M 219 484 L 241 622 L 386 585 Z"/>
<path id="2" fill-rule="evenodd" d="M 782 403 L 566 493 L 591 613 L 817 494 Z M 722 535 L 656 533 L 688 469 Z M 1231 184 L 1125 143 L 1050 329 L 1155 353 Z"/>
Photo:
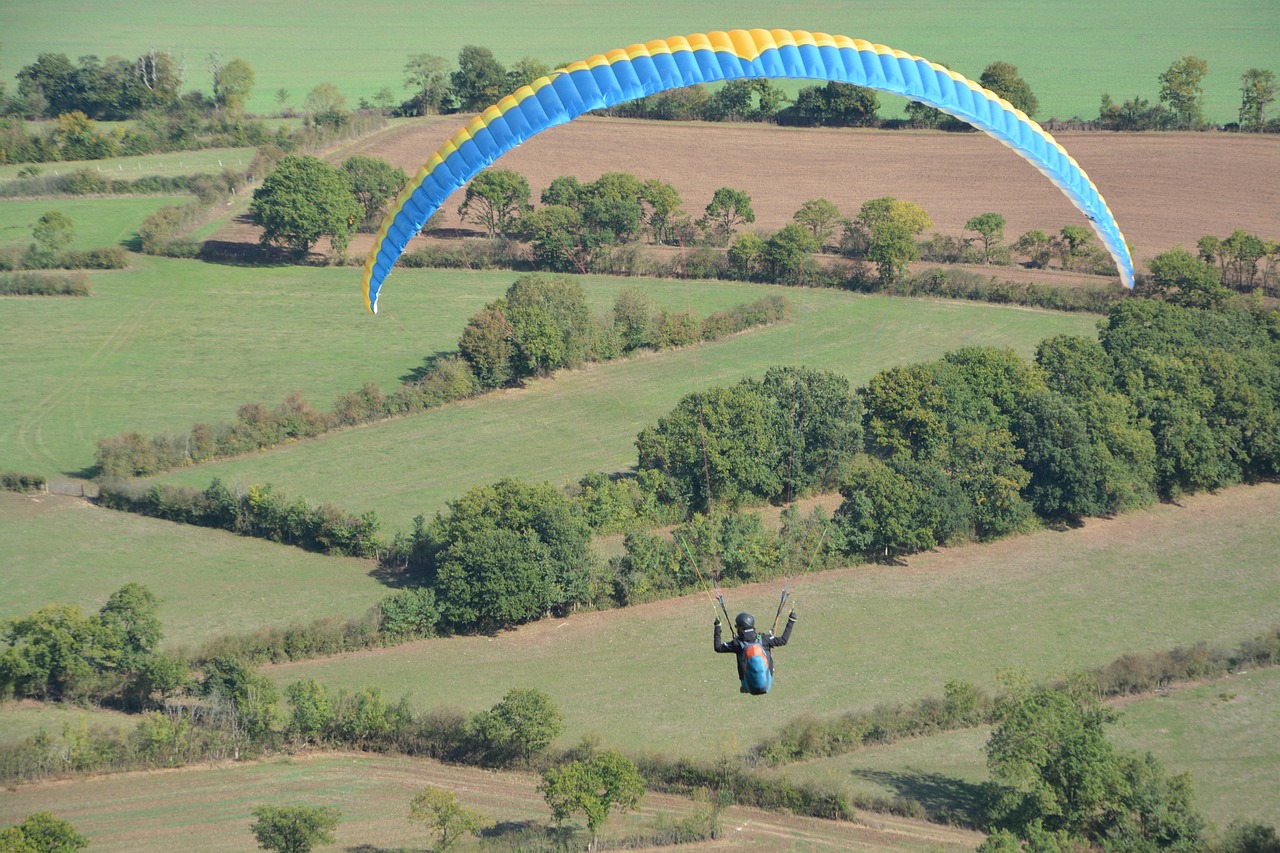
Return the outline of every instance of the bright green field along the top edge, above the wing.
<path id="1" fill-rule="evenodd" d="M 248 108 L 274 113 L 279 90 L 288 91 L 289 106 L 301 108 L 320 82 L 337 85 L 352 105 L 384 87 L 404 97 L 403 67 L 419 53 L 452 63 L 463 45 L 481 45 L 508 64 L 529 55 L 562 64 L 637 41 L 750 27 L 867 38 L 973 78 L 991 61 L 1010 61 L 1039 97 L 1042 117 L 1094 117 L 1103 91 L 1117 100 L 1142 95 L 1156 101 L 1156 77 L 1178 58 L 1194 54 L 1210 65 L 1204 81 L 1210 120 L 1231 122 L 1239 109 L 1240 73 L 1280 70 L 1275 9 L 1249 0 L 1084 0 L 1070 8 L 1030 0 L 1000 6 L 982 0 L 869 0 L 856 8 L 840 0 L 786 8 L 764 0 L 696 5 L 626 0 L 608 13 L 582 0 L 554 5 L 394 0 L 367 12 L 339 0 L 306 6 L 186 0 L 163 13 L 142 0 L 88 5 L 51 0 L 5 9 L 3 73 L 13 91 L 13 76 L 42 51 L 65 53 L 74 61 L 86 54 L 132 58 L 163 46 L 184 58 L 188 88 L 209 92 L 206 58 L 219 53 L 253 67 L 256 87 Z M 901 106 L 882 113 L 901 115 Z"/>

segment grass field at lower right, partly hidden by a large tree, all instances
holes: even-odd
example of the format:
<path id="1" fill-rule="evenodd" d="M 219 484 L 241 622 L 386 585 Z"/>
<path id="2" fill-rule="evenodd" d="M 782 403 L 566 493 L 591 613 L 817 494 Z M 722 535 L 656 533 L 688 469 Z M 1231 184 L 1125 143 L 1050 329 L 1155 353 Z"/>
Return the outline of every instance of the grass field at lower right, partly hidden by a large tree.
<path id="1" fill-rule="evenodd" d="M 1190 771 L 1197 807 L 1220 827 L 1234 820 L 1280 822 L 1280 669 L 1242 672 L 1158 695 L 1112 703 L 1108 729 L 1123 751 L 1152 753 L 1170 772 Z M 788 765 L 794 781 L 842 785 L 878 797 L 910 797 L 933 808 L 965 808 L 989 779 L 988 726 L 869 747 Z"/>

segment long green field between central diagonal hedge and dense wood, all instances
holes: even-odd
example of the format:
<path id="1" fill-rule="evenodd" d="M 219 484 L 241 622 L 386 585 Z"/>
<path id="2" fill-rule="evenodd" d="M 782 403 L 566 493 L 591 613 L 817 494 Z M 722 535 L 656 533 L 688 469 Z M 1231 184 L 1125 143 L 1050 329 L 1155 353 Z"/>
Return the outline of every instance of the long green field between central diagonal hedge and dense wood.
<path id="1" fill-rule="evenodd" d="M 590 279 L 602 296 L 613 282 Z M 678 282 L 644 282 L 675 292 Z M 1011 346 L 1029 355 L 1057 333 L 1093 334 L 1097 316 L 991 305 L 855 296 L 763 286 L 701 283 L 690 292 L 730 295 L 730 301 L 781 292 L 799 319 L 719 343 L 596 365 L 442 410 L 326 435 L 317 441 L 166 475 L 204 488 L 212 476 L 247 487 L 274 483 L 291 494 L 349 511 L 375 510 L 390 529 L 407 530 L 417 514 L 433 515 L 476 484 L 502 476 L 575 483 L 591 470 L 635 464 L 635 437 L 685 393 L 762 375 L 797 360 L 836 370 L 855 383 L 895 364 L 934 359 L 966 345 Z M 415 310 L 387 295 L 399 315 Z M 705 298 L 705 296 L 704 296 Z M 803 301 L 803 302 L 801 302 Z M 803 307 L 801 307 L 803 305 Z M 375 323 L 384 323 L 379 319 Z"/>

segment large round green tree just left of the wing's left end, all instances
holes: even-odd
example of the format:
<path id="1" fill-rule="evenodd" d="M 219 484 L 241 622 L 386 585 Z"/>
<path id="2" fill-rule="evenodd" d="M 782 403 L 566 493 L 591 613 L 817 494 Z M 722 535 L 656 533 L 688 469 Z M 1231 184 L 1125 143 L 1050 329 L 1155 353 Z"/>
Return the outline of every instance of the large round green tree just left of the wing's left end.
<path id="1" fill-rule="evenodd" d="M 288 155 L 253 191 L 253 222 L 262 227 L 260 242 L 306 255 L 320 237 L 346 254 L 356 223 L 365 211 L 340 172 L 310 155 Z"/>

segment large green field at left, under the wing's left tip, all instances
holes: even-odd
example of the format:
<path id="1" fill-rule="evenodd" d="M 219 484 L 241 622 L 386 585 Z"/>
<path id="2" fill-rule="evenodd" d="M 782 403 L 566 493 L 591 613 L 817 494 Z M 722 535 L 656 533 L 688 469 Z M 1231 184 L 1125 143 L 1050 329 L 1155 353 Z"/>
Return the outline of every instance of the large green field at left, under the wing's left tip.
<path id="1" fill-rule="evenodd" d="M 100 438 L 122 432 L 230 421 L 243 403 L 275 406 L 294 391 L 321 410 L 365 382 L 390 391 L 429 356 L 454 351 L 467 318 L 517 277 L 397 272 L 396 304 L 375 318 L 355 268 L 134 261 L 92 274 L 91 298 L 0 302 L 0 467 L 76 474 L 92 465 Z M 598 310 L 639 283 L 593 280 Z M 655 302 L 699 315 L 763 292 L 645 287 Z"/>

